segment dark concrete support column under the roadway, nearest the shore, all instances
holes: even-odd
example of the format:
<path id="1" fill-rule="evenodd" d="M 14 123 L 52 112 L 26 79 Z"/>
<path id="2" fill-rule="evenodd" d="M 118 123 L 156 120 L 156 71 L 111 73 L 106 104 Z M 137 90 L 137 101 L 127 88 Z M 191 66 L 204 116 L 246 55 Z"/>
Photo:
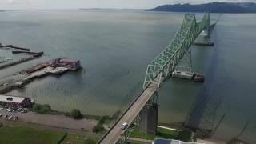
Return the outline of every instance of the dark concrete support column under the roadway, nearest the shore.
<path id="1" fill-rule="evenodd" d="M 158 128 L 158 104 L 147 104 L 141 111 L 141 130 L 148 134 L 156 134 Z"/>

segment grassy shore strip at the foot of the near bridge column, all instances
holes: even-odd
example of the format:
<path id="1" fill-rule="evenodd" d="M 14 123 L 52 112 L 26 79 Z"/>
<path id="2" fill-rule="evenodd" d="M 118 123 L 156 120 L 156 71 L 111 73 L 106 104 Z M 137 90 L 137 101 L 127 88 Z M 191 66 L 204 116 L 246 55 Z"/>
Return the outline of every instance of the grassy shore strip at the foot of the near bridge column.
<path id="1" fill-rule="evenodd" d="M 142 138 L 153 140 L 154 138 L 168 138 L 168 139 L 177 139 L 181 141 L 191 142 L 191 132 L 182 130 L 167 130 L 158 127 L 158 133 L 154 134 L 146 134 L 140 130 L 139 126 L 135 126 L 134 130 L 130 134 L 130 138 Z"/>

